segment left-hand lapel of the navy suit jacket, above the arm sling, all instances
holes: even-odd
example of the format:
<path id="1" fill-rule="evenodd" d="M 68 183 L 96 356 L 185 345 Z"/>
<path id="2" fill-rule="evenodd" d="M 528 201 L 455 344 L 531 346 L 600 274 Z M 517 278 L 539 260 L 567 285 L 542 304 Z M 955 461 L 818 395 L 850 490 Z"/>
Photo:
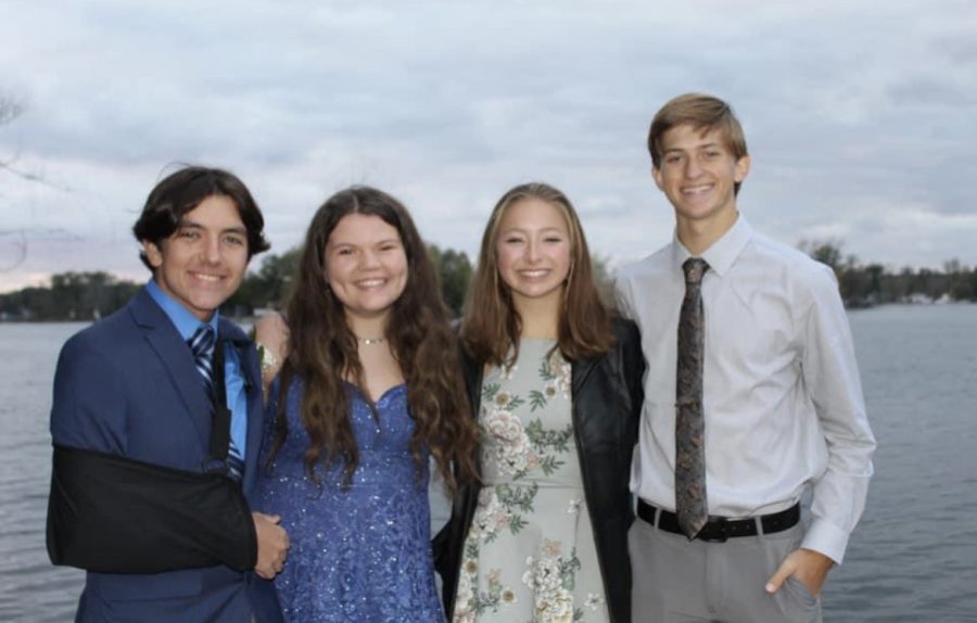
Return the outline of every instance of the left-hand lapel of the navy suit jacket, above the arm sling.
<path id="1" fill-rule="evenodd" d="M 180 338 L 166 313 L 156 305 L 145 289 L 141 290 L 132 300 L 131 310 L 150 348 L 155 352 L 163 367 L 166 368 L 169 380 L 182 402 L 182 410 L 193 422 L 203 452 L 206 453 L 206 441 L 211 435 L 211 404 L 190 348 Z M 147 379 L 147 381 L 154 382 L 153 379 Z"/>

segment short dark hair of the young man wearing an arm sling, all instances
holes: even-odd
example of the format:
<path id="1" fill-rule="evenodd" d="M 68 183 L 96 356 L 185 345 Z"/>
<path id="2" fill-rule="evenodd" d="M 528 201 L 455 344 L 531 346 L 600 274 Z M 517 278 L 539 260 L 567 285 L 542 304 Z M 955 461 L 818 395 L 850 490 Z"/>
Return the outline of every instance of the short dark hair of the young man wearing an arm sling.
<path id="1" fill-rule="evenodd" d="M 232 173 L 205 166 L 185 166 L 163 178 L 150 191 L 132 233 L 139 242 L 158 246 L 173 236 L 180 219 L 208 196 L 227 196 L 238 206 L 238 215 L 248 230 L 249 259 L 270 249 L 263 231 L 265 218 L 244 182 Z M 144 251 L 140 252 L 139 259 L 155 271 Z"/>

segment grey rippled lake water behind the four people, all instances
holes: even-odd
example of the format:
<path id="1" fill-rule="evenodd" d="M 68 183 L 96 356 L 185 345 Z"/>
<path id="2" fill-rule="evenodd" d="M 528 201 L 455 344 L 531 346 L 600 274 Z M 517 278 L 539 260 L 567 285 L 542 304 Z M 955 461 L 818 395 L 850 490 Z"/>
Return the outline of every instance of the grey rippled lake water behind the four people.
<path id="1" fill-rule="evenodd" d="M 825 620 L 977 621 L 977 306 L 850 319 L 879 448 Z M 71 621 L 81 589 L 83 573 L 45 550 L 51 381 L 81 327 L 0 323 L 0 621 Z"/>

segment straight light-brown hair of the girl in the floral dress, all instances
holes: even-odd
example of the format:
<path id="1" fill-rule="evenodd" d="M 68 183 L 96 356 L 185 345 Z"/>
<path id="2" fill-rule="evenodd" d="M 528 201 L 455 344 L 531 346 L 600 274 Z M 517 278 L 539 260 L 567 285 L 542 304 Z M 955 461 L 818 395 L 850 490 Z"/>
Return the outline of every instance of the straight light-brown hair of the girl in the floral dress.
<path id="1" fill-rule="evenodd" d="M 557 321 L 557 347 L 568 361 L 601 355 L 613 342 L 611 314 L 594 283 L 587 240 L 567 195 L 543 182 L 512 188 L 498 200 L 488 217 L 461 320 L 465 348 L 477 361 L 492 366 L 510 365 L 519 354 L 522 318 L 512 304 L 509 287 L 498 275 L 496 245 L 506 209 L 526 199 L 538 199 L 557 207 L 570 233 L 570 275 Z"/>

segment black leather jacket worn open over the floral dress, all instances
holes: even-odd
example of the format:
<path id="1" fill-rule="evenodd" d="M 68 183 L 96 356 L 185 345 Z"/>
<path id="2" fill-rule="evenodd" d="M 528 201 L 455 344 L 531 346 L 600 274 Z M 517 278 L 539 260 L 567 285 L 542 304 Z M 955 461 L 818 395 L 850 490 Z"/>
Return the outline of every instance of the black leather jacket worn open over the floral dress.
<path id="1" fill-rule="evenodd" d="M 627 529 L 634 521 L 634 504 L 629 480 L 644 404 L 645 360 L 634 322 L 616 318 L 613 331 L 614 344 L 610 351 L 573 364 L 571 400 L 584 495 L 608 610 L 613 623 L 630 623 Z M 461 367 L 471 412 L 478 417 L 483 366 L 462 353 Z M 480 491 L 480 483 L 469 483 L 455 496 L 452 519 L 434 537 L 435 567 L 443 581 L 442 597 L 448 620 L 454 612 L 465 538 Z"/>

